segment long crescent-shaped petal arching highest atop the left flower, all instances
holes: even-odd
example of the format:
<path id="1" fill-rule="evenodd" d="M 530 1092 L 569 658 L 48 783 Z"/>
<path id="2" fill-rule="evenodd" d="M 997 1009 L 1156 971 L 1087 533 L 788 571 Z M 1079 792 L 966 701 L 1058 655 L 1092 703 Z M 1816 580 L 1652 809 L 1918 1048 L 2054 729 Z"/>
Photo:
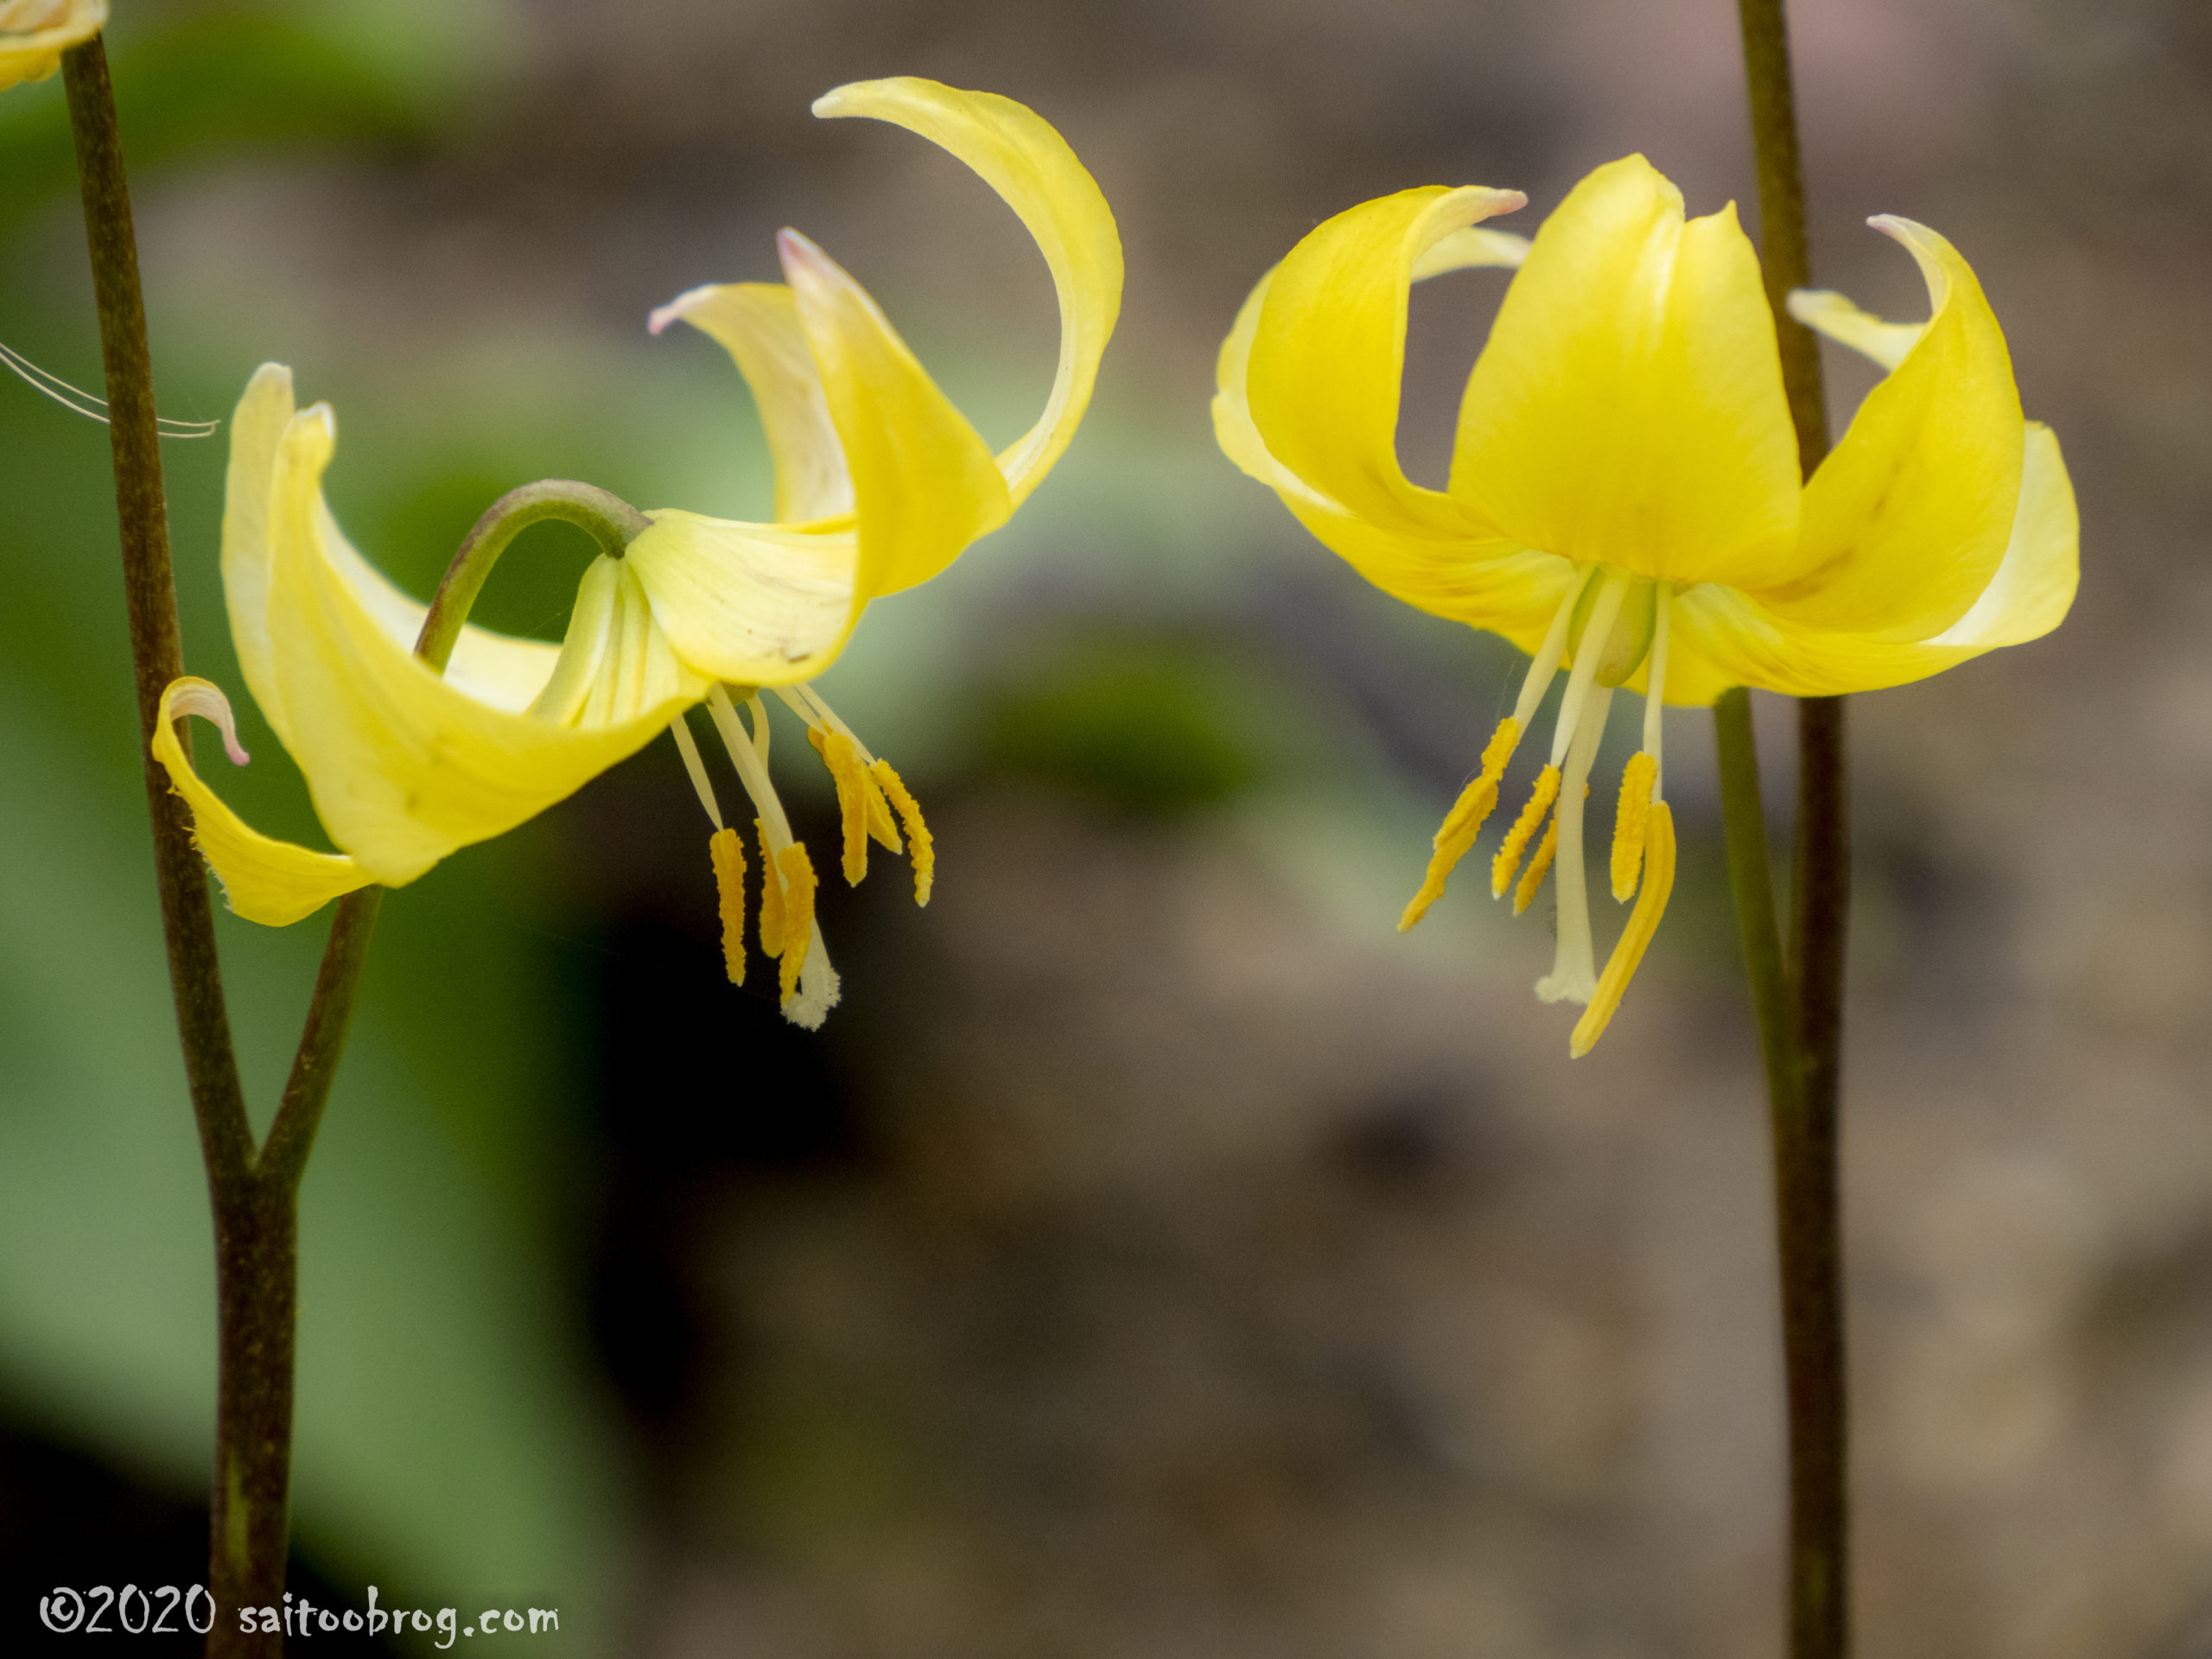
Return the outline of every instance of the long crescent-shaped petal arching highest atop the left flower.
<path id="1" fill-rule="evenodd" d="M 998 458 L 1020 507 L 1075 436 L 1121 314 L 1121 237 L 1106 197 L 1066 139 L 1011 97 L 900 75 L 823 93 L 814 113 L 867 115 L 920 133 L 973 168 L 1037 239 L 1060 296 L 1060 367 L 1037 425 Z"/>

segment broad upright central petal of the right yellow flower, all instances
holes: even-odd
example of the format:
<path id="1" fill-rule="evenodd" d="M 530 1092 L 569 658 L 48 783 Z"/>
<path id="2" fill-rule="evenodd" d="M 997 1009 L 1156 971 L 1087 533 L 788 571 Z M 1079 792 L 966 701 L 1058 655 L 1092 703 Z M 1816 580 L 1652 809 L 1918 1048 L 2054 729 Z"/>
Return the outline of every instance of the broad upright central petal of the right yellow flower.
<path id="1" fill-rule="evenodd" d="M 1577 562 L 1674 582 L 1772 571 L 1796 538 L 1798 453 L 1734 206 L 1683 223 L 1641 155 L 1568 192 L 1467 383 L 1451 493 Z"/>

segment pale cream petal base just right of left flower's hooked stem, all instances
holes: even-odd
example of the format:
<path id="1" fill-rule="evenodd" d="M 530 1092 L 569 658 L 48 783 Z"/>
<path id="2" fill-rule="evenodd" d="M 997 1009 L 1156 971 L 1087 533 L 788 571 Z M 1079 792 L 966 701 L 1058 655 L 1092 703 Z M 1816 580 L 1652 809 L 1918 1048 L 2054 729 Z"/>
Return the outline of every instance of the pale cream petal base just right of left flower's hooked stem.
<path id="1" fill-rule="evenodd" d="M 832 664 L 860 615 L 843 531 L 655 511 L 624 564 L 677 655 L 734 686 L 792 686 Z"/>

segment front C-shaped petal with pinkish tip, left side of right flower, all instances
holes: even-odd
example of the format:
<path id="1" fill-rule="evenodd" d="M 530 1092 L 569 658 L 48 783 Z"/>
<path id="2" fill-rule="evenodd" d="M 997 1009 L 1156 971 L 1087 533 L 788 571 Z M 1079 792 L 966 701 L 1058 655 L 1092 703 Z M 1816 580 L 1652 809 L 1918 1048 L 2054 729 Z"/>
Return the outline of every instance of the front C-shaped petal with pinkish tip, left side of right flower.
<path id="1" fill-rule="evenodd" d="M 1416 263 L 1453 232 L 1522 201 L 1517 190 L 1480 186 L 1400 190 L 1336 215 L 1274 268 L 1259 296 L 1245 396 L 1267 453 L 1305 489 L 1383 529 L 1498 533 L 1405 476 L 1398 394 Z"/>

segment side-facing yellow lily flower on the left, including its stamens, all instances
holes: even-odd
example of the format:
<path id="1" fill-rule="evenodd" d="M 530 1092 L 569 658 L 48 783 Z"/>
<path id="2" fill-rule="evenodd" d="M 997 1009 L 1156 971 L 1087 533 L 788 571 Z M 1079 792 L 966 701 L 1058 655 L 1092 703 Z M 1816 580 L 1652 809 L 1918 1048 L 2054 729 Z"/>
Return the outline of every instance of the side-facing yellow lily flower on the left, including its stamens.
<path id="1" fill-rule="evenodd" d="M 933 847 L 920 807 L 807 681 L 836 659 L 869 599 L 940 571 L 1004 522 L 1060 458 L 1113 332 L 1121 252 L 1091 175 L 1020 104 L 887 80 L 841 86 L 814 108 L 933 139 L 1037 234 L 1064 325 L 1044 418 L 993 460 L 876 303 L 818 248 L 783 232 L 787 288 L 695 290 L 657 314 L 657 325 L 690 316 L 737 356 L 770 434 L 779 522 L 679 509 L 635 515 L 626 544 L 584 573 L 564 644 L 465 626 L 451 659 L 434 664 L 416 655 L 427 608 L 347 544 L 323 502 L 336 445 L 330 409 L 294 409 L 290 372 L 263 367 L 232 420 L 223 593 L 246 684 L 341 852 L 261 836 L 215 796 L 170 719 L 215 719 L 239 761 L 230 708 L 208 681 L 179 679 L 155 754 L 192 805 L 201 852 L 234 911 L 288 925 L 354 887 L 405 885 L 666 728 L 714 823 L 723 945 L 730 978 L 741 980 L 745 854 L 684 719 L 703 701 L 754 803 L 761 947 L 781 958 L 785 1015 L 821 1024 L 836 973 L 814 920 L 812 860 L 768 779 L 763 688 L 805 721 L 836 781 L 847 880 L 867 874 L 874 838 L 911 852 L 916 900 L 929 900 Z"/>

